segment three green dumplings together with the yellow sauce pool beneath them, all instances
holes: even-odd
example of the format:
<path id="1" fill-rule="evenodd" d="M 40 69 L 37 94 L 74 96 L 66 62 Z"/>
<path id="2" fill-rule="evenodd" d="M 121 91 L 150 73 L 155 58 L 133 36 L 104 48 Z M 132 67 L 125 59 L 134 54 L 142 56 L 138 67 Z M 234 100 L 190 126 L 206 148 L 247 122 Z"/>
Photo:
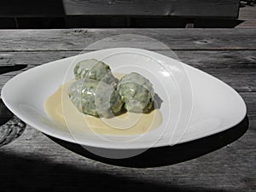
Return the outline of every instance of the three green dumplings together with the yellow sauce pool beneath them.
<path id="1" fill-rule="evenodd" d="M 75 79 L 61 84 L 45 102 L 46 112 L 58 127 L 128 136 L 161 125 L 160 110 L 153 104 L 153 85 L 142 75 L 113 76 L 108 65 L 94 59 L 80 61 L 73 73 Z"/>

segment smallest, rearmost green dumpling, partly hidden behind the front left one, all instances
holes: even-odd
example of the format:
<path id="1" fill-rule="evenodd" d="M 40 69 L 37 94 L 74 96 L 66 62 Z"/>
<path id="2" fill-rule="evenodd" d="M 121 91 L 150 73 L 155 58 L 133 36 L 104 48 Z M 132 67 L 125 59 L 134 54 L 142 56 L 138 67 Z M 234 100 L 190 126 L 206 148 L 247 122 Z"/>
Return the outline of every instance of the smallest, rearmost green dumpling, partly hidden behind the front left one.
<path id="1" fill-rule="evenodd" d="M 110 67 L 95 59 L 80 61 L 73 69 L 75 79 L 95 79 L 116 87 L 118 79 L 113 77 Z"/>

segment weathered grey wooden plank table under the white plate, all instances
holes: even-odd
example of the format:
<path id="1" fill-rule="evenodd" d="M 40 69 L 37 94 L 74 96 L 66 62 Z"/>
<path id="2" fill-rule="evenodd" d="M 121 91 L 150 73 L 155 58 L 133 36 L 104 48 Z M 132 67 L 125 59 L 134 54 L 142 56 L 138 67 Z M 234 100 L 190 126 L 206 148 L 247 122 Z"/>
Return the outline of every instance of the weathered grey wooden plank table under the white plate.
<path id="1" fill-rule="evenodd" d="M 139 36 L 111 38 L 123 34 L 147 36 L 167 46 Z M 137 46 L 172 55 L 172 49 L 181 61 L 230 84 L 247 102 L 247 132 L 235 142 L 193 160 L 129 168 L 87 159 L 26 126 L 20 137 L 0 148 L 0 191 L 255 191 L 255 29 L 2 30 L 0 65 L 27 67 L 0 75 L 0 87 L 21 71 L 77 55 L 107 37 L 104 44 L 90 46 L 87 51 Z"/>

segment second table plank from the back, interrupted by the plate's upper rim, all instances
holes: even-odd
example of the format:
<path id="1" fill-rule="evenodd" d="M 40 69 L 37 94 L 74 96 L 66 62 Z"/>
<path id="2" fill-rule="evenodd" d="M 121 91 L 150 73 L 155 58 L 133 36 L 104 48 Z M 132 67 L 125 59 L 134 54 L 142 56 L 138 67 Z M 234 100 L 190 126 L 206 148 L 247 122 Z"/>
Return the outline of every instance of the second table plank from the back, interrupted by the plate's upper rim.
<path id="1" fill-rule="evenodd" d="M 156 52 L 178 58 L 198 68 L 256 67 L 256 50 L 157 50 Z M 0 52 L 0 66 L 20 64 L 38 66 L 79 54 L 80 51 Z"/>

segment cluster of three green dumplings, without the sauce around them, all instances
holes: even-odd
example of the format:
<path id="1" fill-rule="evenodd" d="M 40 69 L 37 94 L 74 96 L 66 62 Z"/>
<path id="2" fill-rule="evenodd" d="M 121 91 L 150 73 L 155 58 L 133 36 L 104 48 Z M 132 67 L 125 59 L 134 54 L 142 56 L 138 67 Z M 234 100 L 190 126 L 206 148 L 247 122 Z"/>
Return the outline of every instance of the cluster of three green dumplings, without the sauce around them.
<path id="1" fill-rule="evenodd" d="M 80 61 L 73 73 L 77 81 L 68 96 L 82 113 L 109 118 L 124 103 L 129 112 L 147 113 L 153 108 L 153 85 L 139 73 L 126 74 L 119 81 L 107 64 L 95 59 Z"/>

